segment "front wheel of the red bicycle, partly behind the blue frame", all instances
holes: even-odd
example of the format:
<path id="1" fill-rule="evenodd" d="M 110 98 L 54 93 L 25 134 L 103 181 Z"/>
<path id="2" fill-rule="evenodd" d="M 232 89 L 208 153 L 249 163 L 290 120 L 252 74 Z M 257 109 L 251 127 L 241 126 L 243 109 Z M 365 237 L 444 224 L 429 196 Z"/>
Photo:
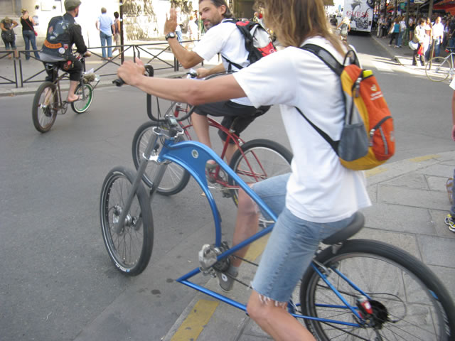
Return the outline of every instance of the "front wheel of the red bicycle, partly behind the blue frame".
<path id="1" fill-rule="evenodd" d="M 134 167 L 136 167 L 136 169 L 139 169 L 139 163 L 141 162 L 142 154 L 145 151 L 151 134 L 153 134 L 151 129 L 158 125 L 161 127 L 164 126 L 162 123 L 147 121 L 146 123 L 141 124 L 141 126 L 139 126 L 136 133 L 134 134 L 132 143 L 132 156 Z M 182 139 L 184 138 L 182 137 Z M 162 146 L 162 141 L 159 141 L 159 146 Z M 159 151 L 159 147 L 154 149 L 153 155 L 158 155 Z M 142 180 L 147 186 L 149 186 L 149 188 L 151 188 L 153 185 L 150 179 L 154 178 L 157 169 L 158 165 L 156 165 L 156 163 L 149 162 L 147 164 L 144 175 L 142 175 Z M 156 188 L 156 192 L 161 195 L 177 194 L 186 187 L 189 180 L 190 173 L 188 173 L 188 171 L 186 171 L 181 166 L 176 165 L 176 163 L 168 163 L 166 172 L 164 173 L 164 176 L 158 188 Z"/>

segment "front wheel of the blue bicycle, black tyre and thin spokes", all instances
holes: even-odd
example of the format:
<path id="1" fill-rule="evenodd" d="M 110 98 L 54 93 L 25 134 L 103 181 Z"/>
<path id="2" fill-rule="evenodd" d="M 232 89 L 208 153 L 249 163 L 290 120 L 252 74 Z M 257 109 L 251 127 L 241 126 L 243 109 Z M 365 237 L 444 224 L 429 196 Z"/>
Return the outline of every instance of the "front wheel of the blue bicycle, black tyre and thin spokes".
<path id="1" fill-rule="evenodd" d="M 133 182 L 132 171 L 124 167 L 113 168 L 106 175 L 100 197 L 102 239 L 116 269 L 128 276 L 136 276 L 144 271 L 149 264 L 154 241 L 149 195 L 141 183 L 129 208 L 124 228 L 119 233 L 114 231 Z"/>

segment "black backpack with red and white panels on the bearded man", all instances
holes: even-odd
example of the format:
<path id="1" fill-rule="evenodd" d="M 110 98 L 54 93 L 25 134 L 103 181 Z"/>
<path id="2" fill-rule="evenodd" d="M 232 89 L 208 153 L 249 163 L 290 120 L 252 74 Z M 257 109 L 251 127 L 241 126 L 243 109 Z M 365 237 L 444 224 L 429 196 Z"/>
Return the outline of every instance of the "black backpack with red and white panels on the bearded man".
<path id="1" fill-rule="evenodd" d="M 242 33 L 243 38 L 245 38 L 245 48 L 248 51 L 248 60 L 250 64 L 257 62 L 257 60 L 262 57 L 269 55 L 270 53 L 277 52 L 277 49 L 270 39 L 269 33 L 264 30 L 260 23 L 255 23 L 253 21 L 239 21 L 235 18 L 229 18 L 223 22 L 235 23 L 235 26 Z M 229 63 L 229 69 L 231 70 L 231 65 L 237 67 L 237 69 L 242 69 L 242 66 L 232 63 L 228 58 L 223 58 Z"/>

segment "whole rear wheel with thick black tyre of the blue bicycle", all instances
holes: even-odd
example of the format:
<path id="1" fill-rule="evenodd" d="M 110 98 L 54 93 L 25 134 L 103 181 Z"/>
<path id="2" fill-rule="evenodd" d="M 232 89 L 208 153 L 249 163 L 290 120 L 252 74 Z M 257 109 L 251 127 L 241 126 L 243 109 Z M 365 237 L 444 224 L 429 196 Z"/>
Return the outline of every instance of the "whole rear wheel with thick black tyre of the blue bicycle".
<path id="1" fill-rule="evenodd" d="M 306 327 L 318 340 L 454 340 L 455 310 L 448 291 L 427 266 L 406 251 L 378 241 L 352 239 L 336 251 L 333 247 L 324 249 L 316 261 L 329 269 L 335 266 L 386 309 L 372 303 L 373 312 L 381 316 L 377 328 L 382 338 L 376 339 L 378 335 L 371 327 L 306 319 Z M 331 275 L 337 276 L 333 270 Z M 331 283 L 355 307 L 353 288 L 341 277 L 333 280 L 333 276 Z M 304 315 L 356 322 L 346 308 L 323 306 L 341 301 L 312 267 L 302 277 L 299 296 Z"/>

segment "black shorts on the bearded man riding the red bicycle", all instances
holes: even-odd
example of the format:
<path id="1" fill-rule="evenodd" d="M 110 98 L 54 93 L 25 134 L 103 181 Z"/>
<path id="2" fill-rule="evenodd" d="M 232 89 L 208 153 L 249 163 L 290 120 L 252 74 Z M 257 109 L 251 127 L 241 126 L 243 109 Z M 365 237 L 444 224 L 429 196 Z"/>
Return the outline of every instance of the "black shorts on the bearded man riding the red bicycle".
<path id="1" fill-rule="evenodd" d="M 194 109 L 195 114 L 203 116 L 223 117 L 221 125 L 226 129 L 232 129 L 237 136 L 244 131 L 247 126 L 255 120 L 256 117 L 265 114 L 270 106 L 263 106 L 256 109 L 247 105 L 234 103 L 231 101 L 214 102 L 207 104 L 200 104 Z M 224 131 L 218 131 L 218 135 L 223 141 L 226 141 L 227 135 Z M 230 144 L 234 141 L 230 140 Z"/>

